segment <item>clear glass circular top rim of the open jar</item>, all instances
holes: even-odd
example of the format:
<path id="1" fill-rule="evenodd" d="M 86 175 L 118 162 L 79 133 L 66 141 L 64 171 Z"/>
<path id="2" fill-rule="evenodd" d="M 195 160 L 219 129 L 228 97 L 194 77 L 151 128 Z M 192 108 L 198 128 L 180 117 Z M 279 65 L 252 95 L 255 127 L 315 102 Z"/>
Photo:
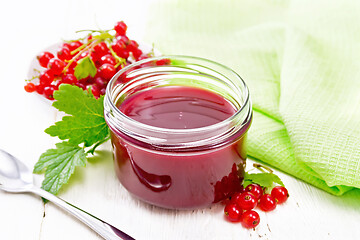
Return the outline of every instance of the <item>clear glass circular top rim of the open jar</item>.
<path id="1" fill-rule="evenodd" d="M 189 129 L 163 128 L 163 127 L 151 126 L 151 125 L 148 125 L 148 124 L 145 124 L 145 123 L 141 123 L 139 121 L 136 121 L 136 120 L 130 118 L 129 116 L 127 116 L 123 112 L 121 112 L 118 107 L 116 107 L 116 103 L 113 101 L 114 98 L 113 98 L 112 88 L 116 84 L 116 81 L 118 80 L 119 76 L 121 76 L 122 74 L 124 74 L 127 71 L 131 70 L 132 68 L 139 67 L 139 66 L 143 65 L 144 63 L 157 61 L 157 60 L 161 60 L 161 59 L 185 59 L 185 60 L 192 59 L 192 60 L 201 61 L 201 62 L 204 62 L 204 63 L 213 64 L 213 65 L 216 65 L 216 66 L 218 66 L 218 67 L 220 67 L 220 68 L 222 68 L 222 69 L 224 69 L 224 70 L 226 70 L 228 72 L 231 72 L 233 74 L 233 76 L 236 77 L 237 80 L 242 85 L 242 86 L 236 86 L 236 87 L 237 88 L 240 88 L 240 87 L 242 88 L 242 90 L 239 89 L 239 91 L 244 93 L 244 101 L 241 103 L 240 107 L 236 110 L 236 112 L 234 114 L 232 114 L 229 118 L 224 119 L 224 120 L 222 120 L 222 121 L 220 121 L 218 123 L 212 124 L 212 125 L 198 127 L 198 128 L 189 128 Z M 106 88 L 104 105 L 105 105 L 105 108 L 110 108 L 112 110 L 111 113 L 114 114 L 115 117 L 118 117 L 122 121 L 124 121 L 124 125 L 126 125 L 126 123 L 136 124 L 136 126 L 141 128 L 142 130 L 148 130 L 148 131 L 152 131 L 152 132 L 161 132 L 161 133 L 164 133 L 164 134 L 175 134 L 175 135 L 199 134 L 199 133 L 204 133 L 204 132 L 211 132 L 211 131 L 214 131 L 214 130 L 219 129 L 219 128 L 224 128 L 225 126 L 228 126 L 231 122 L 233 122 L 234 120 L 239 118 L 239 115 L 244 114 L 245 111 L 246 111 L 246 116 L 245 116 L 245 118 L 242 118 L 242 120 L 243 120 L 242 125 L 248 124 L 251 121 L 251 118 L 252 118 L 252 110 L 251 110 L 251 101 L 250 101 L 249 89 L 248 89 L 245 81 L 239 76 L 239 74 L 237 74 L 231 68 L 229 68 L 229 67 L 227 67 L 227 66 L 225 66 L 223 64 L 217 63 L 215 61 L 205 59 L 205 58 L 201 58 L 201 57 L 186 56 L 186 55 L 165 55 L 165 56 L 160 56 L 160 57 L 151 57 L 151 58 L 147 58 L 147 59 L 137 61 L 135 63 L 132 63 L 132 64 L 124 67 L 123 69 L 118 71 L 112 77 L 110 82 L 108 83 L 108 86 Z"/>

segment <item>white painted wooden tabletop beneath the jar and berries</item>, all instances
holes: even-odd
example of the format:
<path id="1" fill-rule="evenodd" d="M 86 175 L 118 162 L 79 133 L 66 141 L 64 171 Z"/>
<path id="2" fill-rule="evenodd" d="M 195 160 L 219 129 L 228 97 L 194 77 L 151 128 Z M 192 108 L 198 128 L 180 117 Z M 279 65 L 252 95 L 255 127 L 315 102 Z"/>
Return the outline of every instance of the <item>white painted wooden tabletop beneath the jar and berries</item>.
<path id="1" fill-rule="evenodd" d="M 141 40 L 152 1 L 20 0 L 0 7 L 0 148 L 32 169 L 56 139 L 43 130 L 58 118 L 50 103 L 23 90 L 29 64 L 44 47 L 76 30 L 112 27 L 125 20 Z M 250 164 L 249 164 L 250 165 Z M 88 166 L 78 169 L 60 197 L 108 221 L 136 239 L 360 239 L 360 199 L 335 197 L 278 173 L 289 200 L 270 213 L 260 212 L 256 230 L 226 222 L 221 205 L 196 211 L 159 209 L 132 198 L 117 181 L 105 144 Z M 41 176 L 34 176 L 37 185 Z M 359 194 L 357 194 L 359 196 Z M 0 239 L 100 239 L 85 225 L 33 195 L 0 191 Z"/>

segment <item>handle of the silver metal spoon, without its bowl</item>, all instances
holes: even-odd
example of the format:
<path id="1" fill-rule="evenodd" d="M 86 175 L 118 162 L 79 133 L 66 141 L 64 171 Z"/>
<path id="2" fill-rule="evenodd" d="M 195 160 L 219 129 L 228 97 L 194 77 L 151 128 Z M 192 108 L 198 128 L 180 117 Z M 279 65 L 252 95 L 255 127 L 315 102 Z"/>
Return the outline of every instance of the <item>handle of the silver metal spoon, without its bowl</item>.
<path id="1" fill-rule="evenodd" d="M 37 187 L 32 187 L 30 192 L 35 193 L 52 203 L 56 204 L 60 208 L 64 209 L 68 213 L 74 215 L 76 218 L 81 220 L 83 223 L 92 228 L 101 237 L 106 240 L 135 240 L 126 233 L 117 229 L 116 227 L 106 223 L 105 221 L 85 212 L 84 210 L 56 197 L 55 195 Z"/>

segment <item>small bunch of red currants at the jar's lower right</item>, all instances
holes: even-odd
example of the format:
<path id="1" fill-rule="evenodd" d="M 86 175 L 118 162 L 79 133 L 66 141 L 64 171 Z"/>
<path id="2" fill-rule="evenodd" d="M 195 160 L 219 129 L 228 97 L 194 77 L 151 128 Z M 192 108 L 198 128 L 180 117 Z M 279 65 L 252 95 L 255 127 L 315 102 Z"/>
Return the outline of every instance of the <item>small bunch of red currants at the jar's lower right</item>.
<path id="1" fill-rule="evenodd" d="M 245 228 L 254 228 L 260 223 L 259 214 L 253 210 L 255 207 L 258 206 L 265 212 L 272 211 L 288 197 L 288 191 L 283 186 L 276 186 L 271 190 L 271 194 L 267 194 L 265 188 L 253 183 L 231 196 L 225 205 L 224 213 L 229 221 L 241 222 Z"/>

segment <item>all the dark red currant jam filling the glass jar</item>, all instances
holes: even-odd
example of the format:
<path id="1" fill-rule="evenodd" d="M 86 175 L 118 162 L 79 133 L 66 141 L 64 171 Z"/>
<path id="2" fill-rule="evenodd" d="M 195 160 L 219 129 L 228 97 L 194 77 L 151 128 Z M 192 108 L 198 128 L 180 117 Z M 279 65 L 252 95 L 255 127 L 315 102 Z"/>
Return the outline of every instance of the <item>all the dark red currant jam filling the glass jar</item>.
<path id="1" fill-rule="evenodd" d="M 190 86 L 139 91 L 116 106 L 141 123 L 139 128 L 162 128 L 164 138 L 167 131 L 188 129 L 190 139 L 198 137 L 197 129 L 218 124 L 238 110 L 223 96 Z M 139 140 L 112 129 L 117 176 L 130 193 L 160 207 L 209 206 L 241 189 L 246 158 L 243 142 L 249 125 L 224 144 L 186 151 L 180 145 L 179 149 L 159 149 L 143 144 L 141 137 Z"/>

